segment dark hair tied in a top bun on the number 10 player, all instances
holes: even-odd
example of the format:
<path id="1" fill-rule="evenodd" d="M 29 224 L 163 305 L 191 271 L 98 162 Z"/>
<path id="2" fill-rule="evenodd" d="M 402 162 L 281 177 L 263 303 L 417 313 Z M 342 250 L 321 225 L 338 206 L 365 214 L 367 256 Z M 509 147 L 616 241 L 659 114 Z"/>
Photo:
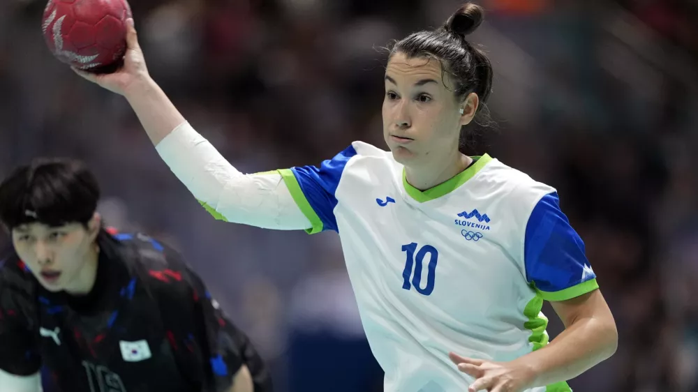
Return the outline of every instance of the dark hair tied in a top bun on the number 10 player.
<path id="1" fill-rule="evenodd" d="M 475 3 L 465 3 L 436 30 L 410 34 L 390 49 L 390 57 L 400 52 L 408 59 L 433 58 L 440 61 L 443 72 L 454 82 L 454 94 L 459 100 L 476 93 L 480 98 L 477 123 L 492 123 L 487 115 L 487 98 L 492 91 L 492 63 L 482 50 L 471 45 L 466 36 L 482 24 L 484 10 Z M 461 132 L 461 146 L 465 133 Z"/>

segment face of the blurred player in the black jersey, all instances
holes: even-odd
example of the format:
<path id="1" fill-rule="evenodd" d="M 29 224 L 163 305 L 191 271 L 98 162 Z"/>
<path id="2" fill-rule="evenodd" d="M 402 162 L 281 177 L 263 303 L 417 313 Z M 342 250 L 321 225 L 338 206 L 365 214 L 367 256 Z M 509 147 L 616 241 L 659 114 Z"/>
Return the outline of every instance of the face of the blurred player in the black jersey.
<path id="1" fill-rule="evenodd" d="M 29 223 L 12 230 L 12 241 L 20 259 L 51 292 L 75 285 L 80 270 L 94 251 L 99 223 L 94 218 L 86 229 L 80 223 L 50 227 Z"/>

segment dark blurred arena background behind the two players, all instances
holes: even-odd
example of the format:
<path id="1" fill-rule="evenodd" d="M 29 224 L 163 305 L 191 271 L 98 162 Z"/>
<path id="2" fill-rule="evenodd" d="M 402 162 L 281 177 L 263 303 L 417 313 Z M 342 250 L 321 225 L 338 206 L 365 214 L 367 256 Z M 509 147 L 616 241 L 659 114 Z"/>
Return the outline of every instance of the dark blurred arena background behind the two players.
<path id="1" fill-rule="evenodd" d="M 133 0 L 151 74 L 245 172 L 384 146 L 380 47 L 458 0 Z M 498 126 L 473 137 L 560 191 L 614 311 L 618 353 L 575 391 L 698 391 L 698 2 L 482 0 Z M 278 391 L 378 392 L 333 234 L 214 220 L 119 96 L 54 60 L 43 0 L 0 1 L 0 176 L 87 161 L 109 225 L 180 248 L 254 340 Z M 6 238 L 0 241 L 7 241 Z M 463 298 L 463 306 L 468 299 Z M 560 322 L 550 308 L 550 333 Z"/>

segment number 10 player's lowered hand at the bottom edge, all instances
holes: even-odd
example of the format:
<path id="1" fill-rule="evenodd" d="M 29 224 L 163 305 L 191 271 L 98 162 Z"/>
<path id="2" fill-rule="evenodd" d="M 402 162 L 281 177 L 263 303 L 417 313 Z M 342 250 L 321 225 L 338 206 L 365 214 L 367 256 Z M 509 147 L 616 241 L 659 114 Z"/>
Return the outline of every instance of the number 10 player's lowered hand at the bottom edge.
<path id="1" fill-rule="evenodd" d="M 533 369 L 514 362 L 493 362 L 471 359 L 449 353 L 458 370 L 475 378 L 468 392 L 521 392 L 531 387 L 535 379 Z"/>

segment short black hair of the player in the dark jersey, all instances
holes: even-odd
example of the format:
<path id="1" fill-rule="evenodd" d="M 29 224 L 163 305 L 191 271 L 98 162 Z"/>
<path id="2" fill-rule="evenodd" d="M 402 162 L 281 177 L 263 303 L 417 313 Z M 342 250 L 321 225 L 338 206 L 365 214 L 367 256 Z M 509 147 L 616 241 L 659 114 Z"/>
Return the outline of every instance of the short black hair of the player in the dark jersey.
<path id="1" fill-rule="evenodd" d="M 97 179 L 84 163 L 38 158 L 17 167 L 0 184 L 0 222 L 10 230 L 35 222 L 87 225 L 99 197 Z"/>

